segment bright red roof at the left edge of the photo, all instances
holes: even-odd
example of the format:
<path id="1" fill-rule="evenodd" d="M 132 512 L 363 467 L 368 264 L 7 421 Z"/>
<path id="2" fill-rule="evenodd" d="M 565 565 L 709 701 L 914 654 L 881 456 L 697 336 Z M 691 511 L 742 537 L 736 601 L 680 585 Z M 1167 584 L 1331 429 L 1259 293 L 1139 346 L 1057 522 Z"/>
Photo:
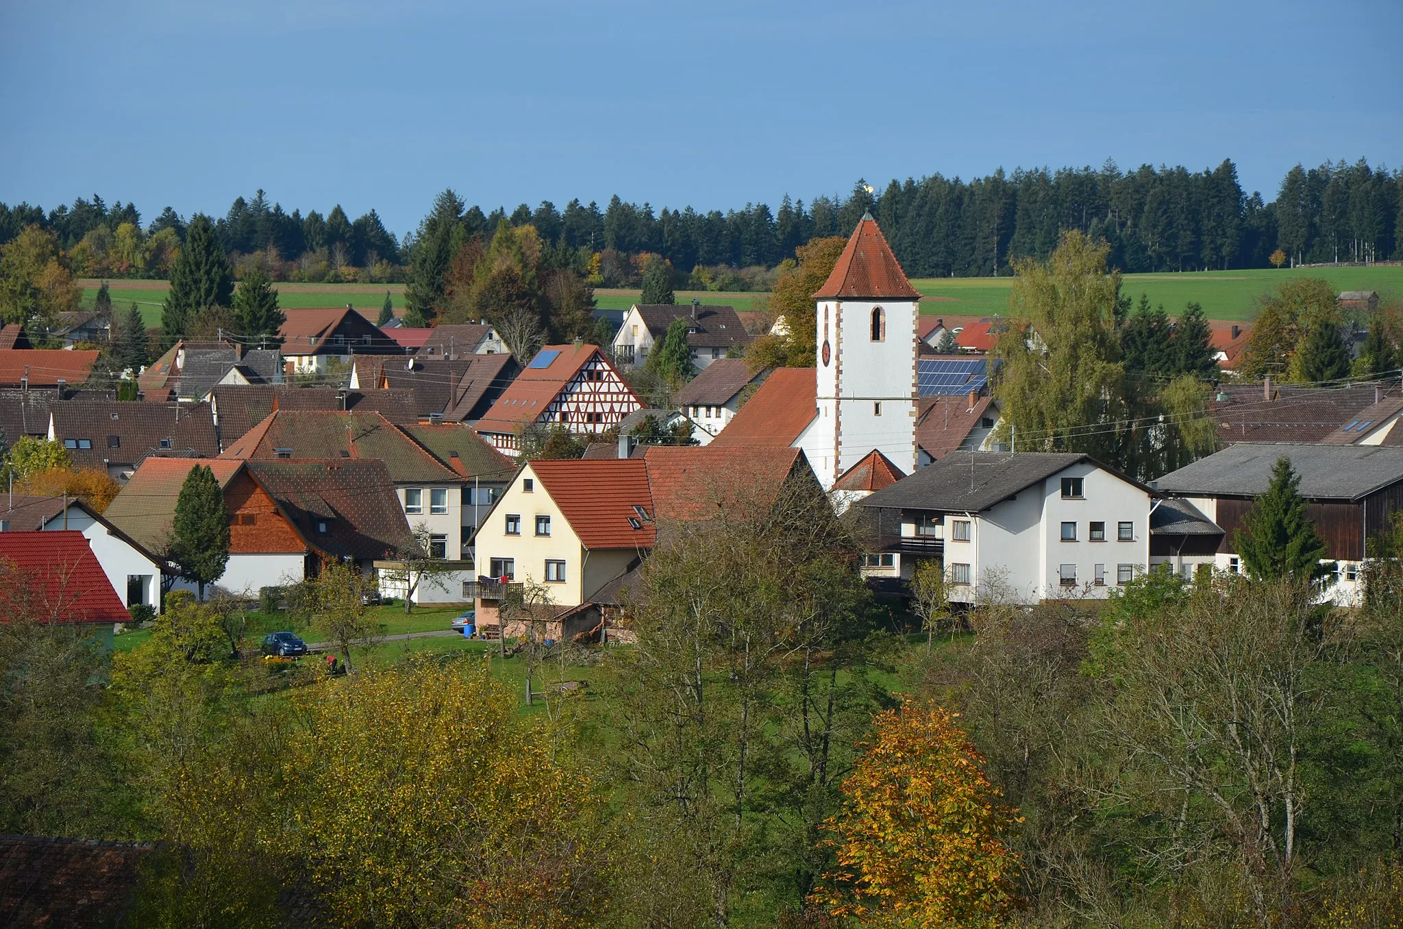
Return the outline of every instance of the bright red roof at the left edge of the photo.
<path id="1" fill-rule="evenodd" d="M 0 620 L 29 616 L 53 623 L 125 623 L 130 615 L 81 532 L 0 532 Z"/>

